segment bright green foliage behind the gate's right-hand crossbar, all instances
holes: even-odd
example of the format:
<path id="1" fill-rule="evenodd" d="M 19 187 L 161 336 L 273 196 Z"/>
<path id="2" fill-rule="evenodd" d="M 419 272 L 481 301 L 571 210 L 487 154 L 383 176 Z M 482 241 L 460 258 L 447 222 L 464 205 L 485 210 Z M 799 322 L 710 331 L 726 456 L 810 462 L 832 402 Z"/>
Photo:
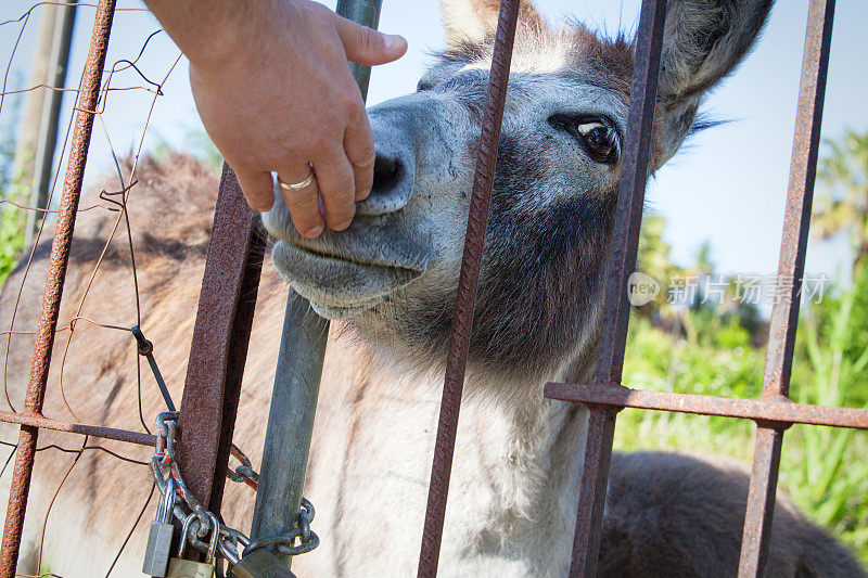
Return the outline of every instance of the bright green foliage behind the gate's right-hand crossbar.
<path id="1" fill-rule="evenodd" d="M 832 292 L 834 294 L 834 290 Z M 791 381 L 800 403 L 868 407 L 868 344 L 857 304 L 868 274 L 852 288 L 810 306 L 796 335 Z M 723 397 L 760 394 L 765 348 L 738 313 L 728 319 L 707 309 L 684 312 L 680 326 L 662 331 L 634 318 L 627 336 L 624 384 L 635 388 Z M 856 350 L 854 344 L 861 344 Z M 746 420 L 624 410 L 615 429 L 620 449 L 666 449 L 729 455 L 749 461 L 754 425 Z M 784 435 L 780 489 L 816 523 L 850 544 L 868 564 L 868 438 L 861 432 L 795 426 Z"/>

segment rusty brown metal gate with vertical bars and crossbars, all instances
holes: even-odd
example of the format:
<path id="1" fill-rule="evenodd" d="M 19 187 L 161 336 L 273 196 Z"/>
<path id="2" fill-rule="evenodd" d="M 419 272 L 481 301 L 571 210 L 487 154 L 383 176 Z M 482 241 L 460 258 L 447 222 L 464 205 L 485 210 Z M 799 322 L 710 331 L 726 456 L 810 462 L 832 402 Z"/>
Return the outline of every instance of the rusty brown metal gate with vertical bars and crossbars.
<path id="1" fill-rule="evenodd" d="M 474 299 L 519 5 L 519 0 L 502 0 L 500 3 L 455 320 L 448 348 L 419 558 L 420 577 L 433 577 L 437 573 L 472 332 Z M 3 531 L 0 562 L 2 576 L 14 575 L 36 439 L 40 428 L 87 434 L 146 446 L 155 442 L 154 436 L 146 434 L 65 423 L 47 419 L 41 414 L 75 214 L 81 192 L 84 167 L 114 10 L 115 0 L 100 0 L 54 232 L 25 409 L 22 412 L 0 412 L 0 421 L 21 424 L 10 505 Z M 765 574 L 783 432 L 794 423 L 868 429 L 866 410 L 799 404 L 787 397 L 817 165 L 833 10 L 834 0 L 810 0 L 778 271 L 778 279 L 793 282 L 787 287 L 789 298 L 776 303 L 773 310 L 761 397 L 731 399 L 642 391 L 620 385 L 629 319 L 627 278 L 636 266 L 666 13 L 666 0 L 642 2 L 616 224 L 605 273 L 603 341 L 596 374 L 591 384 L 552 383 L 545 389 L 545 396 L 548 398 L 580 402 L 590 410 L 571 576 L 596 574 L 615 419 L 623 408 L 724 415 L 750 419 L 756 423 L 753 472 L 739 566 L 740 576 L 745 577 Z M 341 1 L 339 12 L 375 27 L 380 1 Z M 356 66 L 354 73 L 362 90 L 366 91 L 369 70 Z M 241 376 L 259 281 L 261 260 L 252 256 L 260 254 L 263 247 L 264 239 L 256 233 L 254 214 L 245 204 L 234 175 L 225 166 L 180 407 L 177 450 L 181 474 L 188 481 L 190 490 L 202 504 L 213 511 L 219 511 L 222 498 Z M 322 320 L 306 319 L 308 326 L 317 329 L 317 333 L 310 338 L 309 332 L 302 335 L 304 332 L 293 330 L 298 325 L 296 317 L 299 314 L 297 310 L 288 307 L 275 386 L 275 399 L 280 401 L 272 403 L 269 418 L 261 486 L 256 501 L 254 537 L 268 536 L 290 528 L 294 524 L 294 518 L 288 514 L 297 512 L 301 501 L 317 387 L 308 389 L 305 385 L 302 391 L 299 384 L 306 382 L 309 385 L 319 382 L 328 323 Z M 279 437 L 283 439 L 286 438 L 286 432 L 292 432 L 293 439 L 297 438 L 297 442 L 282 448 L 269 444 L 269 439 L 276 439 L 280 432 L 283 434 Z M 278 473 L 279 470 L 283 473 Z M 284 514 L 270 514 L 278 511 Z"/>

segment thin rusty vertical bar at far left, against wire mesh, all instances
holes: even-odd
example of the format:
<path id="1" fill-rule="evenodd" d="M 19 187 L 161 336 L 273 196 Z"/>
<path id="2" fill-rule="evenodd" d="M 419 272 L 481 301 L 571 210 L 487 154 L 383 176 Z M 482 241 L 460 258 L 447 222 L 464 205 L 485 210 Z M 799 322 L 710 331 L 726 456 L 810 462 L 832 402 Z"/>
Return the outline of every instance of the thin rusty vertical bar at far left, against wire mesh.
<path id="1" fill-rule="evenodd" d="M 42 294 L 42 308 L 36 327 L 30 380 L 24 401 L 24 413 L 40 416 L 46 395 L 51 350 L 54 345 L 54 330 L 60 314 L 63 282 L 66 266 L 69 262 L 69 246 L 73 242 L 76 210 L 81 195 L 81 182 L 85 177 L 90 134 L 93 129 L 93 115 L 102 80 L 105 52 L 108 47 L 108 35 L 112 29 L 115 0 L 100 0 L 93 22 L 93 34 L 90 38 L 88 60 L 78 101 L 78 114 L 75 119 L 75 132 L 69 147 L 69 164 L 63 183 L 58 223 L 54 228 L 54 240 L 51 245 L 46 291 Z M 0 576 L 13 576 L 18 558 L 21 534 L 24 515 L 27 509 L 27 492 L 30 487 L 37 427 L 22 425 L 18 434 L 18 448 L 15 455 L 15 468 L 12 474 L 12 487 L 9 493 L 5 527 L 3 528 L 2 549 L 0 550 Z"/>

